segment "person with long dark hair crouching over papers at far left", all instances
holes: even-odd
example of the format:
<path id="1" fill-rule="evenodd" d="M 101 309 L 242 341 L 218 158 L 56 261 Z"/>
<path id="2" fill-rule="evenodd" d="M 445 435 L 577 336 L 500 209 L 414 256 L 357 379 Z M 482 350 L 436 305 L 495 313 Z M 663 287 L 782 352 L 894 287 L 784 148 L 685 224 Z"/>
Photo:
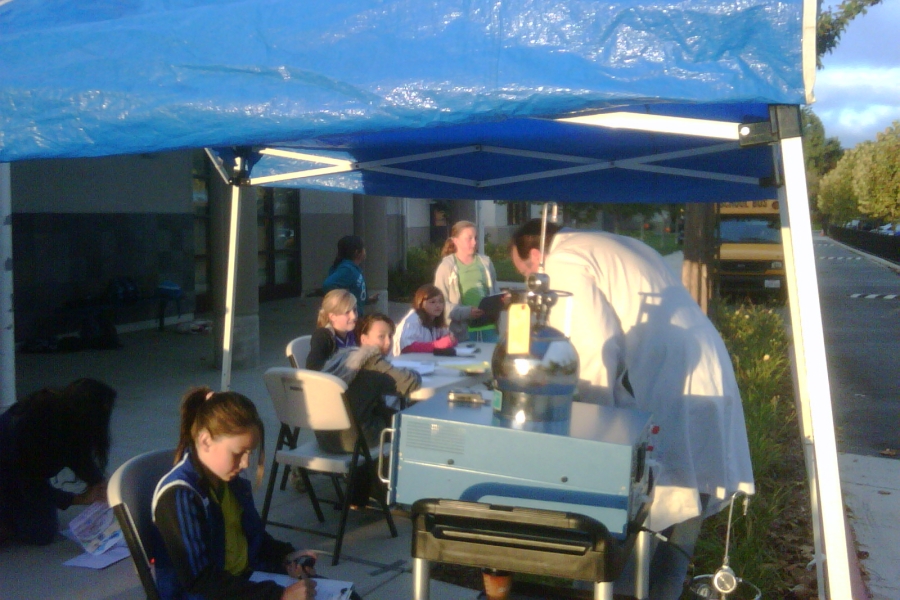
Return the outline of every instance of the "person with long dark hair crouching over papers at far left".
<path id="1" fill-rule="evenodd" d="M 57 509 L 106 500 L 109 419 L 116 391 L 95 379 L 45 388 L 0 415 L 0 540 L 51 543 Z M 68 467 L 87 484 L 81 493 L 53 486 Z"/>

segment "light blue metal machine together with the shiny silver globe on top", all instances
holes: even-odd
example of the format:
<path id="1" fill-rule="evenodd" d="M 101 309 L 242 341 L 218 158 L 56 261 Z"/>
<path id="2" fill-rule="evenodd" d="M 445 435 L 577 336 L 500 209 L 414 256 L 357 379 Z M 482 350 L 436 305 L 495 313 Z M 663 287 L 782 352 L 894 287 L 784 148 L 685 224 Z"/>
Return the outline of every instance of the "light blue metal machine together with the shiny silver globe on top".
<path id="1" fill-rule="evenodd" d="M 555 204 L 544 206 L 542 256 L 550 207 L 551 220 L 556 214 Z M 571 512 L 624 539 L 650 506 L 651 415 L 572 401 L 578 354 L 546 324 L 558 293 L 543 264 L 526 285 L 509 309 L 510 341 L 501 341 L 491 360 L 490 405 L 435 395 L 394 416 L 393 429 L 386 430 L 393 433 L 383 479 L 388 500 L 411 506 L 442 498 Z"/>

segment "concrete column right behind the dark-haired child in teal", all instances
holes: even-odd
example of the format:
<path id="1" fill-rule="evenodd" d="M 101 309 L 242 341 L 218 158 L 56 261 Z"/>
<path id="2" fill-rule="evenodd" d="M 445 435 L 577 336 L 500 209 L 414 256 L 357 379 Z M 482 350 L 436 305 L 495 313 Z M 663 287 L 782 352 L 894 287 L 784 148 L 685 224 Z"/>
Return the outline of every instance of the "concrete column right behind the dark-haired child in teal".
<path id="1" fill-rule="evenodd" d="M 387 206 L 380 196 L 353 196 L 353 233 L 366 244 L 366 262 L 363 274 L 369 296 L 378 294 L 378 303 L 366 308 L 366 312 L 388 312 L 387 272 Z"/>

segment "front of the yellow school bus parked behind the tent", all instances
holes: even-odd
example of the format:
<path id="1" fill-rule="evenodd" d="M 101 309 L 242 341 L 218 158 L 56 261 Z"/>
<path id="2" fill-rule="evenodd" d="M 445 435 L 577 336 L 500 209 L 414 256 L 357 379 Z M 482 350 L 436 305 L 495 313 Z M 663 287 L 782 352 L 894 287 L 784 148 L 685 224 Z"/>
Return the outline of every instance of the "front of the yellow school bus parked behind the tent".
<path id="1" fill-rule="evenodd" d="M 716 237 L 722 292 L 785 293 L 778 200 L 719 204 Z"/>

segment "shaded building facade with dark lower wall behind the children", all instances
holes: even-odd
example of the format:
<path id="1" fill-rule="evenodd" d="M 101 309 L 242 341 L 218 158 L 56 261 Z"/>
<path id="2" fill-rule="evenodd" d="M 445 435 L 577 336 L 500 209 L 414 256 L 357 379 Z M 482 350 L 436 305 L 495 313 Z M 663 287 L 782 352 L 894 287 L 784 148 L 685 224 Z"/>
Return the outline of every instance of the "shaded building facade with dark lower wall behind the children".
<path id="1" fill-rule="evenodd" d="M 167 324 L 178 308 L 182 320 L 222 311 L 231 188 L 203 151 L 23 161 L 12 163 L 10 181 L 17 342 L 78 333 L 97 313 L 120 332 L 154 327 L 161 285 L 184 294 L 180 307 L 165 305 Z M 344 235 L 366 240 L 367 284 L 386 302 L 387 271 L 408 248 L 442 243 L 452 223 L 476 218 L 486 239 L 504 243 L 532 213 L 527 203 L 242 194 L 239 278 L 245 294 L 256 293 L 243 303 L 249 312 L 319 288 Z M 122 281 L 135 288 L 127 298 L 116 294 Z"/>

